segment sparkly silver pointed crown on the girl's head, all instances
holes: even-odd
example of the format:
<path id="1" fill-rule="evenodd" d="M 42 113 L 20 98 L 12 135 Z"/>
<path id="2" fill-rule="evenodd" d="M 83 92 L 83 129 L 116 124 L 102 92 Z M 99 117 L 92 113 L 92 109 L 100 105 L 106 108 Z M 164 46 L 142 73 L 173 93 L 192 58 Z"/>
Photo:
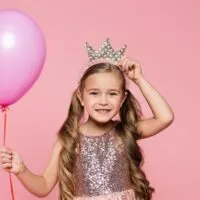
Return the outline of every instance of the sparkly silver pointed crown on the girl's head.
<path id="1" fill-rule="evenodd" d="M 111 64 L 119 65 L 120 60 L 125 53 L 126 47 L 127 46 L 124 45 L 124 47 L 121 49 L 114 51 L 109 42 L 109 38 L 107 38 L 99 50 L 95 51 L 93 47 L 90 46 L 88 42 L 86 42 L 86 48 L 89 57 L 88 65 L 90 66 L 101 62 L 108 62 Z"/>

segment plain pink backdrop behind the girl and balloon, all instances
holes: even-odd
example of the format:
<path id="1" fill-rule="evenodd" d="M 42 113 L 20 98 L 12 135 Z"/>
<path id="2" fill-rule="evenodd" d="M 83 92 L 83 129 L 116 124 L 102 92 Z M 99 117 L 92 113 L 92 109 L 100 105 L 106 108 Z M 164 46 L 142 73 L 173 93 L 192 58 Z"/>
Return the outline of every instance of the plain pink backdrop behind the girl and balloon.
<path id="1" fill-rule="evenodd" d="M 141 63 L 146 79 L 175 114 L 169 128 L 140 141 L 144 170 L 156 188 L 153 199 L 199 199 L 199 6 L 198 0 L 1 0 L 0 8 L 17 8 L 32 16 L 47 41 L 47 60 L 39 80 L 10 107 L 7 144 L 20 152 L 30 170 L 43 172 L 87 61 L 84 42 L 99 47 L 110 37 L 116 49 L 128 45 L 127 55 Z M 152 116 L 138 88 L 129 87 L 145 115 Z M 16 200 L 39 199 L 14 176 L 13 183 Z M 57 196 L 55 188 L 44 199 Z M 2 171 L 0 200 L 11 200 L 8 174 Z"/>

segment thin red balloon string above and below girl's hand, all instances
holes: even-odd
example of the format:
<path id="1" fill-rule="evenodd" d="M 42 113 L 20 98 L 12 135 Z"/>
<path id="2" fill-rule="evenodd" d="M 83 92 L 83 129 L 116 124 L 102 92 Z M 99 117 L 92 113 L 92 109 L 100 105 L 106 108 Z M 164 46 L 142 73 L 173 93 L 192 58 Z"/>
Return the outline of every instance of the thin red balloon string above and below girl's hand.
<path id="1" fill-rule="evenodd" d="M 7 125 L 7 111 L 8 111 L 8 107 L 0 107 L 3 115 L 4 115 L 4 126 L 3 126 L 3 145 L 6 145 L 6 125 Z M 11 173 L 9 173 L 9 180 L 10 180 L 10 190 L 11 190 L 11 196 L 12 196 L 12 200 L 15 200 L 15 196 L 14 196 L 14 191 L 13 191 L 13 182 L 12 182 L 12 176 Z"/>

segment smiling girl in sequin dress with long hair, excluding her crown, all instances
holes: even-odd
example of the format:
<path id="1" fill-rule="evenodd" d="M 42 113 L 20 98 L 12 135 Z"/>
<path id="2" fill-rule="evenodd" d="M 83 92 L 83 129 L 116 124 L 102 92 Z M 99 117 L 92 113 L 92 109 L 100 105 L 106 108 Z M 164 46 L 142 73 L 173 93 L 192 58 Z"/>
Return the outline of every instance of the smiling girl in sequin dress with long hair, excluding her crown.
<path id="1" fill-rule="evenodd" d="M 142 119 L 125 76 L 139 87 L 152 118 Z M 81 123 L 85 111 L 88 119 Z M 118 113 L 120 119 L 113 120 Z M 136 61 L 124 56 L 119 65 L 99 62 L 87 68 L 73 93 L 44 173 L 33 174 L 5 146 L 0 149 L 1 165 L 38 197 L 47 196 L 58 182 L 60 200 L 150 200 L 154 188 L 142 170 L 137 140 L 159 133 L 172 121 L 171 108 Z"/>

